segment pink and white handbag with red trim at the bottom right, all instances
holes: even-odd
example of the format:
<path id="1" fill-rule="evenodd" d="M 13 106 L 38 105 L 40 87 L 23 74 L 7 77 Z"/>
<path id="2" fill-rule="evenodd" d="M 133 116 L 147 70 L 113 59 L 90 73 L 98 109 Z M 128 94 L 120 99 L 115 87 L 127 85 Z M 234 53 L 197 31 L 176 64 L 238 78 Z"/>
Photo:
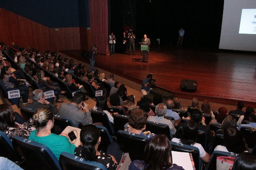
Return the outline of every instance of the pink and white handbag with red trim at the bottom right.
<path id="1" fill-rule="evenodd" d="M 216 160 L 217 170 L 232 170 L 236 158 L 228 156 L 218 156 Z"/>

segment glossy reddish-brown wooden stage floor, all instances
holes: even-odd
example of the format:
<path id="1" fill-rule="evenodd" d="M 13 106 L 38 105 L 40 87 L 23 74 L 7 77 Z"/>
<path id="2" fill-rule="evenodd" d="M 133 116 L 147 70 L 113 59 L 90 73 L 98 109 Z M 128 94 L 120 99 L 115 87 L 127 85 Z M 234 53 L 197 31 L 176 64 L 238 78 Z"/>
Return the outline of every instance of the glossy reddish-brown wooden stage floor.
<path id="1" fill-rule="evenodd" d="M 85 60 L 80 50 L 61 52 L 83 62 Z M 180 98 L 197 97 L 229 105 L 236 105 L 240 100 L 245 102 L 245 106 L 256 108 L 255 52 L 152 46 L 149 62 L 140 62 L 140 51 L 136 52 L 136 56 L 96 54 L 95 66 L 137 83 L 142 83 L 147 74 L 153 72 L 157 87 Z M 86 62 L 89 63 L 89 59 Z M 182 79 L 196 80 L 197 91 L 181 91 Z"/>

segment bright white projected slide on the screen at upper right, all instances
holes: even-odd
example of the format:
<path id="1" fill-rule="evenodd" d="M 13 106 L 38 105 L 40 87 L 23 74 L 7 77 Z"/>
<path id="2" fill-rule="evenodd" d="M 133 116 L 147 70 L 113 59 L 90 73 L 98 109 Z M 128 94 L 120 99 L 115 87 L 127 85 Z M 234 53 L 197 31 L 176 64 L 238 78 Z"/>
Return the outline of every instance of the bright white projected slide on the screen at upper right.
<path id="1" fill-rule="evenodd" d="M 256 34 L 256 9 L 242 9 L 239 34 Z"/>

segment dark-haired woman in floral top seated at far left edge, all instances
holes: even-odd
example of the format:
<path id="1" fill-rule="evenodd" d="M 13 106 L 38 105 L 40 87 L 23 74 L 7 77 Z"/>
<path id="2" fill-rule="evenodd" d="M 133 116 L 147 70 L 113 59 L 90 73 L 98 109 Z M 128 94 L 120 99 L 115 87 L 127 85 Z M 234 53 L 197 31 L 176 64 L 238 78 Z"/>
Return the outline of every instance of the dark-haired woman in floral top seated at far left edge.
<path id="1" fill-rule="evenodd" d="M 35 127 L 33 127 L 32 119 L 29 119 L 28 122 L 25 122 L 22 125 L 15 122 L 15 114 L 12 107 L 8 104 L 1 104 L 0 130 L 6 133 L 10 139 L 12 139 L 14 136 L 21 136 L 28 139 L 29 134 L 32 132 L 32 130 L 35 130 Z"/>

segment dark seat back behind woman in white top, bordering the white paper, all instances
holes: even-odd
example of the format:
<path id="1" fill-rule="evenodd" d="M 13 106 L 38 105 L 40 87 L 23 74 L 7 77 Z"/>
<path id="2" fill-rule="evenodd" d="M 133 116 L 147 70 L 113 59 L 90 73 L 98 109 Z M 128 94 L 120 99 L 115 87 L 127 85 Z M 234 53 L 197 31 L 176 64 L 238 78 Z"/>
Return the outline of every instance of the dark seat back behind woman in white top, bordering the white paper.
<path id="1" fill-rule="evenodd" d="M 171 142 L 171 145 L 172 145 L 173 151 L 191 153 L 194 163 L 195 163 L 195 169 L 201 170 L 201 168 L 199 168 L 199 167 L 201 167 L 200 152 L 197 147 L 190 146 L 187 144 L 181 144 L 181 143 L 177 143 L 177 142 Z"/>

